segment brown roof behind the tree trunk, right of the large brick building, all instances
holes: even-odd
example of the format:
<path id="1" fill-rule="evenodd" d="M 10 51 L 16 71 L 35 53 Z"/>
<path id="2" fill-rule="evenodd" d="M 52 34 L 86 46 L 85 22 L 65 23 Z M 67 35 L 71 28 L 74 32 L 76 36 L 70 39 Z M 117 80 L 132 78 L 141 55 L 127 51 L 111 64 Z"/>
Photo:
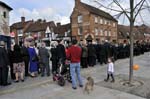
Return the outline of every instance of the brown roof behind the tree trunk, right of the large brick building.
<path id="1" fill-rule="evenodd" d="M 129 39 L 130 26 L 118 25 L 118 38 Z M 144 33 L 140 32 L 136 27 L 133 28 L 133 36 L 135 39 L 143 38 Z"/>

